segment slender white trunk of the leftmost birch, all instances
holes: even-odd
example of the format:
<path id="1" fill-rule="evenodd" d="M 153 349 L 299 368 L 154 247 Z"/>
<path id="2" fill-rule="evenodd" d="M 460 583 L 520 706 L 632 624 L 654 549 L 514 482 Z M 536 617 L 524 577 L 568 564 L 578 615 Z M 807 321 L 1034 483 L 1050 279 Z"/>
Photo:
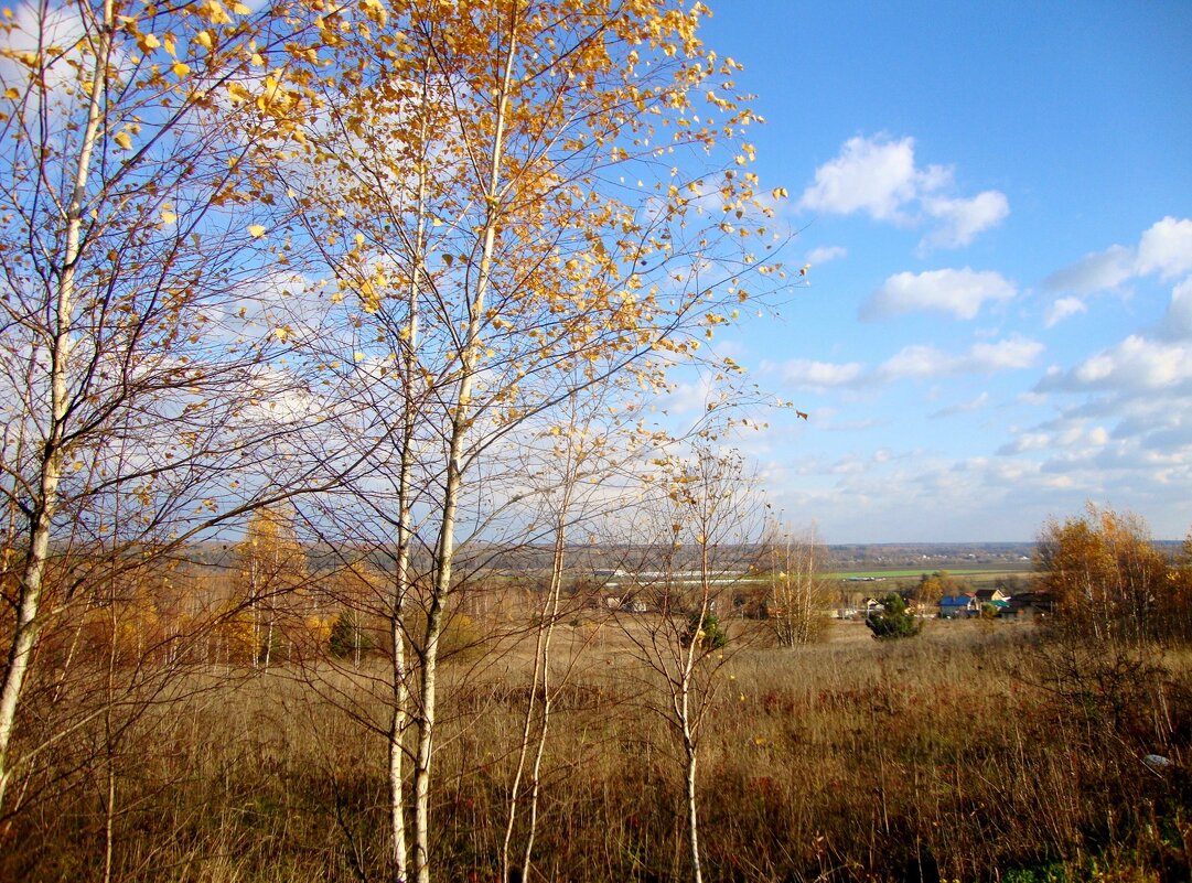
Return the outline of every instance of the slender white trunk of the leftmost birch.
<path id="1" fill-rule="evenodd" d="M 30 506 L 30 542 L 20 577 L 17 622 L 13 627 L 4 684 L 0 685 L 0 808 L 4 807 L 5 791 L 12 778 L 10 748 L 17 725 L 20 694 L 32 663 L 33 647 L 41 624 L 38 614 L 42 607 L 45 567 L 49 560 L 50 530 L 58 502 L 58 483 L 62 479 L 64 455 L 62 448 L 66 440 L 66 418 L 69 406 L 67 381 L 70 357 L 70 325 L 75 301 L 75 274 L 80 255 L 87 178 L 91 174 L 92 154 L 99 139 L 104 118 L 113 20 L 112 0 L 105 0 L 99 39 L 95 45 L 87 122 L 83 126 L 75 164 L 74 188 L 62 218 L 66 226 L 66 238 L 58 265 L 58 280 L 54 292 L 55 310 L 49 378 L 50 413 L 46 421 L 46 439 L 42 452 L 37 498 Z"/>

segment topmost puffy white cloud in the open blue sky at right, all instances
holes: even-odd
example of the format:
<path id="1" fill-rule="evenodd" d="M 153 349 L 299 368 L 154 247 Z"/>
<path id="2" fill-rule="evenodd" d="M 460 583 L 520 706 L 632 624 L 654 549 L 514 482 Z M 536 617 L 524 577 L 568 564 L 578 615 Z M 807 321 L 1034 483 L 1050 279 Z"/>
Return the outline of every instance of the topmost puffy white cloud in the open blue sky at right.
<path id="1" fill-rule="evenodd" d="M 944 193 L 951 188 L 950 168 L 915 166 L 914 138 L 857 136 L 815 169 L 815 182 L 803 191 L 799 207 L 832 214 L 863 212 L 902 225 L 930 218 L 939 226 L 919 243 L 923 251 L 968 245 L 1010 214 L 1010 203 L 999 191 L 975 197 Z"/>

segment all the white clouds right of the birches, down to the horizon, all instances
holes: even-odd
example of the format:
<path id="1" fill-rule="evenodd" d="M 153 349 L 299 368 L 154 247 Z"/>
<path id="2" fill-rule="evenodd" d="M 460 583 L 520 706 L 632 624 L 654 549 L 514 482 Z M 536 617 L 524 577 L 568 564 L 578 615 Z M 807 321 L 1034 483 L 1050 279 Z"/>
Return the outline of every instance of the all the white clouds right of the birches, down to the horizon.
<path id="1" fill-rule="evenodd" d="M 797 206 L 921 230 L 919 257 L 969 245 L 1010 216 L 1002 193 L 960 193 L 950 167 L 921 166 L 912 138 L 888 136 L 845 142 L 817 169 Z M 844 247 L 821 247 L 808 261 L 848 256 Z M 840 540 L 865 539 L 867 524 L 882 539 L 892 520 L 898 522 L 899 508 L 907 523 L 931 533 L 919 539 L 966 530 L 975 537 L 1029 539 L 1024 529 L 1076 511 L 1086 499 L 1153 514 L 1156 533 L 1181 535 L 1187 528 L 1181 518 L 1192 517 L 1185 500 L 1192 486 L 1192 417 L 1186 416 L 1192 415 L 1192 219 L 1162 217 L 1136 242 L 1025 280 L 1025 288 L 994 269 L 962 265 L 888 275 L 862 298 L 857 318 L 874 323 L 923 313 L 970 323 L 968 346 L 954 335 L 949 340 L 960 342 L 950 348 L 906 342 L 871 362 L 796 357 L 762 366 L 763 374 L 788 388 L 832 393 L 834 404 L 818 415 L 821 428 L 880 430 L 887 439 L 876 452 L 861 447 L 812 455 L 797 467 L 771 459 L 771 467 L 784 473 L 776 479 L 791 489 L 784 503 L 818 512 L 826 535 Z M 1162 310 L 1155 298 L 1167 291 L 1157 321 L 1123 327 L 1116 342 L 1093 352 L 1079 350 L 1081 329 L 1060 328 L 1081 315 L 1095 317 L 1103 307 L 1106 316 L 1112 307 L 1116 317 L 1147 310 L 1154 317 Z M 1135 300 L 1137 309 L 1123 309 Z M 977 318 L 1001 330 L 973 325 Z M 1107 328 L 1103 322 L 1098 330 Z M 1067 363 L 1047 365 L 1049 347 L 1051 359 Z M 994 385 L 993 375 L 1008 372 L 1025 375 Z M 935 385 L 964 375 L 971 383 L 948 387 L 960 400 L 926 416 L 946 421 L 985 412 L 975 419 L 986 427 L 987 449 L 970 446 L 949 456 L 890 441 L 882 419 L 849 422 L 850 400 L 871 404 L 877 391 L 899 381 Z M 929 398 L 939 388 L 930 387 Z M 840 394 L 861 391 L 868 394 Z M 781 447 L 776 439 L 772 450 Z M 924 512 L 942 500 L 951 515 L 932 527 Z"/>

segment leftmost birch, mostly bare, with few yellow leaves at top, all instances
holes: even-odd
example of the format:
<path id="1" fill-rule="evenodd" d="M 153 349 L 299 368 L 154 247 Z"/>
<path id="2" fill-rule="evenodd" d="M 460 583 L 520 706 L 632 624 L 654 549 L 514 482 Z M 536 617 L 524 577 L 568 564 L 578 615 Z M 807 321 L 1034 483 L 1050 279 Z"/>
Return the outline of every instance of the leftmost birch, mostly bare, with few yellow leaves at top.
<path id="1" fill-rule="evenodd" d="M 268 369 L 285 248 L 261 238 L 280 223 L 263 158 L 310 110 L 313 18 L 300 2 L 99 0 L 0 23 L 0 486 L 17 514 L 0 804 L 38 635 L 86 562 L 143 564 L 125 553 L 268 495 L 234 490 L 263 471 L 262 439 L 292 428 L 255 411 L 292 384 Z M 119 536 L 103 516 L 116 497 Z"/>

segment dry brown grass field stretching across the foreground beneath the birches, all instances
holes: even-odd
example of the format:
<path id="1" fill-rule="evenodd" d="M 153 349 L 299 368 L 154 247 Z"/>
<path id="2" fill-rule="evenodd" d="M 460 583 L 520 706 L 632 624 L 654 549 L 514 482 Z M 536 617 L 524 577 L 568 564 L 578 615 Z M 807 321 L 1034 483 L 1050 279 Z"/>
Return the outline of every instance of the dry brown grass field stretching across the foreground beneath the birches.
<path id="1" fill-rule="evenodd" d="M 718 672 L 701 748 L 709 879 L 1188 878 L 1186 657 L 1057 694 L 1062 660 L 1026 626 L 937 623 L 892 645 L 867 634 L 837 623 L 822 645 L 745 647 Z M 610 624 L 566 627 L 560 647 L 576 667 L 530 879 L 682 879 L 682 784 L 650 711 L 657 688 Z M 440 879 L 495 879 L 524 666 L 514 652 L 449 671 Z M 205 689 L 130 716 L 118 739 L 97 721 L 31 783 L 0 879 L 99 878 L 108 769 L 116 879 L 384 879 L 384 746 L 361 725 L 383 707 L 367 678 L 311 674 L 192 674 Z M 1129 690 L 1124 710 L 1098 689 Z M 1173 766 L 1156 772 L 1147 753 Z"/>

